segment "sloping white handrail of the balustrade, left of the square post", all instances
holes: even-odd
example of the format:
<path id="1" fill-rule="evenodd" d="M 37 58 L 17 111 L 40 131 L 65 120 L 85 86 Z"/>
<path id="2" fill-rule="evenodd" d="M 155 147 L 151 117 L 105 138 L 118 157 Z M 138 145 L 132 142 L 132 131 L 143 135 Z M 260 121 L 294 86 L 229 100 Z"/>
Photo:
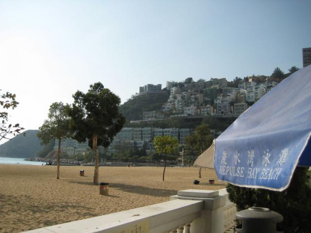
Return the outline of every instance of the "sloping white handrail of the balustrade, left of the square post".
<path id="1" fill-rule="evenodd" d="M 150 233 L 169 231 L 200 216 L 202 200 L 172 200 L 150 206 L 63 223 L 28 233 L 120 233 L 141 227 Z"/>

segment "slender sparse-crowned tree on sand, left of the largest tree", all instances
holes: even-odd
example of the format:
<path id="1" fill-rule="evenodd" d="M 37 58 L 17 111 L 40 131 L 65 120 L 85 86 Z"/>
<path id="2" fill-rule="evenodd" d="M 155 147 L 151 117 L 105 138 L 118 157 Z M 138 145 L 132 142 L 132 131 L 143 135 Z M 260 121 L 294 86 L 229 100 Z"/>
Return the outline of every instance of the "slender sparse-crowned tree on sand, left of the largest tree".
<path id="1" fill-rule="evenodd" d="M 69 116 L 66 112 L 66 106 L 62 102 L 54 102 L 51 104 L 48 120 L 45 120 L 43 125 L 39 127 L 38 138 L 41 139 L 42 144 L 47 145 L 53 139 L 58 139 L 57 151 L 57 173 L 56 179 L 59 179 L 59 166 L 61 154 L 61 141 L 69 137 Z"/>

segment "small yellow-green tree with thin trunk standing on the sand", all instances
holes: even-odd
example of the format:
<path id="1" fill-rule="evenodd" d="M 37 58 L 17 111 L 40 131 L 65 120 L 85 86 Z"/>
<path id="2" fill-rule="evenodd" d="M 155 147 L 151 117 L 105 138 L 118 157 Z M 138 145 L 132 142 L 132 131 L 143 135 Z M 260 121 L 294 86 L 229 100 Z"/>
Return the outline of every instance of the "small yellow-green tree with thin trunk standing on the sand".
<path id="1" fill-rule="evenodd" d="M 173 152 L 177 149 L 178 139 L 171 137 L 169 135 L 156 136 L 154 138 L 154 146 L 155 146 L 155 151 L 158 154 L 164 155 L 164 170 L 163 170 L 163 178 L 162 178 L 162 181 L 164 181 L 167 156 L 168 154 L 173 154 Z"/>

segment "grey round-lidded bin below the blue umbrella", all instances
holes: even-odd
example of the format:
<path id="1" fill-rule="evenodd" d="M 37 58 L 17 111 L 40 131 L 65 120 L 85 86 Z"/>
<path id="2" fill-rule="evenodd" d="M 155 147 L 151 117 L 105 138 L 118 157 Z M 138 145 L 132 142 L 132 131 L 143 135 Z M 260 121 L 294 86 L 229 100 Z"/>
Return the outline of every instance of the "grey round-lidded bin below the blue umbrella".
<path id="1" fill-rule="evenodd" d="M 277 231 L 276 223 L 283 221 L 280 214 L 262 207 L 251 207 L 235 214 L 242 225 L 235 228 L 237 233 L 283 233 Z"/>

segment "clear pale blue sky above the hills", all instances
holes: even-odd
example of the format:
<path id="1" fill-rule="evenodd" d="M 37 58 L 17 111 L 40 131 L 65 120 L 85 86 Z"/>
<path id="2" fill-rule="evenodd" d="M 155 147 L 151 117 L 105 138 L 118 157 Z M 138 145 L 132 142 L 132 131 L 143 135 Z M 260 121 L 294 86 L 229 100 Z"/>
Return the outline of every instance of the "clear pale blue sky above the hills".
<path id="1" fill-rule="evenodd" d="M 0 89 L 38 129 L 54 101 L 102 82 L 122 102 L 166 81 L 302 67 L 310 0 L 0 0 Z M 1 141 L 2 142 L 2 141 Z"/>

